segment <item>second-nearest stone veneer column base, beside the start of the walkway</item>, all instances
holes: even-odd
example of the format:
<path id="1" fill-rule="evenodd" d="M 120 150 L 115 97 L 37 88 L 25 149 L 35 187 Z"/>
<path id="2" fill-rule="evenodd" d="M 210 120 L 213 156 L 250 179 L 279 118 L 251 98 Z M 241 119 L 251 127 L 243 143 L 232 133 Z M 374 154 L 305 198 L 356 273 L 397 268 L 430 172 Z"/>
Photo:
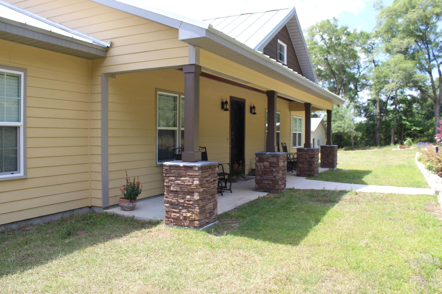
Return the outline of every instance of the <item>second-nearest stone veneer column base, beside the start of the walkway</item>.
<path id="1" fill-rule="evenodd" d="M 286 190 L 287 153 L 255 153 L 255 191 L 279 194 Z"/>

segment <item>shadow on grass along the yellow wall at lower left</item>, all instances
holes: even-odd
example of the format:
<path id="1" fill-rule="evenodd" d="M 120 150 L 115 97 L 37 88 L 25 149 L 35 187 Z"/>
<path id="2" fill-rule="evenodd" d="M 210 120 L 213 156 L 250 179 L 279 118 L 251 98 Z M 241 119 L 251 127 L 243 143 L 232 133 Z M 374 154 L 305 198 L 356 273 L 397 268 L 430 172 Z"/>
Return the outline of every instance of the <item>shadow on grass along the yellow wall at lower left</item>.
<path id="1" fill-rule="evenodd" d="M 26 271 L 76 250 L 153 227 L 157 223 L 91 212 L 0 231 L 0 277 Z"/>

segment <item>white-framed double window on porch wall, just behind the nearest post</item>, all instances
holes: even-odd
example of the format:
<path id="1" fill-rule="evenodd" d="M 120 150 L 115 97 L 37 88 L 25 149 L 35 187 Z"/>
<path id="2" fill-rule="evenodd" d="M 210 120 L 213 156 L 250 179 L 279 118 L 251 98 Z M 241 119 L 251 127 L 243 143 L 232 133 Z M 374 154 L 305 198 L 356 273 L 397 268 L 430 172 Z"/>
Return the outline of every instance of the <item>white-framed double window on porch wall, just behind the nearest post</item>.
<path id="1" fill-rule="evenodd" d="M 174 160 L 172 148 L 184 144 L 184 96 L 157 92 L 156 163 Z"/>

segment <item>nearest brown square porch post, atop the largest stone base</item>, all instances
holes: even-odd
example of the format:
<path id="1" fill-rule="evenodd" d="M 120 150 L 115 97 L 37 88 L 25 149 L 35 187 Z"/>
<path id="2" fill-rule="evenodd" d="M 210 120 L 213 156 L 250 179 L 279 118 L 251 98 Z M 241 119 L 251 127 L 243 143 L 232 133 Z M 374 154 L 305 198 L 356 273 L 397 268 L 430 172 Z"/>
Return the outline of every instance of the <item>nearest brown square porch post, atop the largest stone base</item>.
<path id="1" fill-rule="evenodd" d="M 186 64 L 184 73 L 184 152 L 183 161 L 201 161 L 199 152 L 199 75 L 201 66 Z"/>

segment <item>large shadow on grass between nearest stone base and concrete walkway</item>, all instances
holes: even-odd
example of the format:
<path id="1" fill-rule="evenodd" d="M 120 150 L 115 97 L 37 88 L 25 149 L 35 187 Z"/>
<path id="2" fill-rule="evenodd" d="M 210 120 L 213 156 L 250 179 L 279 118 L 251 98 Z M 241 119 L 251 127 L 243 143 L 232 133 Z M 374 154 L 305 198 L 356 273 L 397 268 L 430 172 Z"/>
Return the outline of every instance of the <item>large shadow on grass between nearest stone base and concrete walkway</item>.
<path id="1" fill-rule="evenodd" d="M 298 245 L 347 191 L 294 190 L 267 194 L 218 216 L 212 234 Z"/>

